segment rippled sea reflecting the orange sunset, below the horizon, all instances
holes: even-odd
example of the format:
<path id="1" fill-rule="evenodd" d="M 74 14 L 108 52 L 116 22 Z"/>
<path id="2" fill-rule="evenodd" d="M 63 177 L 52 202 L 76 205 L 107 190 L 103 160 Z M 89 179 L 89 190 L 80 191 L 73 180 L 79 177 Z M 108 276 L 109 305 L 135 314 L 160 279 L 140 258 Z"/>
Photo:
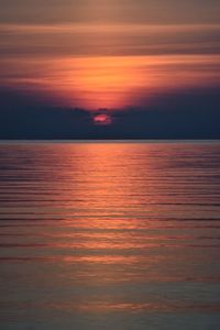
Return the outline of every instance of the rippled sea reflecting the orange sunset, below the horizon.
<path id="1" fill-rule="evenodd" d="M 220 142 L 0 143 L 0 324 L 219 330 Z"/>

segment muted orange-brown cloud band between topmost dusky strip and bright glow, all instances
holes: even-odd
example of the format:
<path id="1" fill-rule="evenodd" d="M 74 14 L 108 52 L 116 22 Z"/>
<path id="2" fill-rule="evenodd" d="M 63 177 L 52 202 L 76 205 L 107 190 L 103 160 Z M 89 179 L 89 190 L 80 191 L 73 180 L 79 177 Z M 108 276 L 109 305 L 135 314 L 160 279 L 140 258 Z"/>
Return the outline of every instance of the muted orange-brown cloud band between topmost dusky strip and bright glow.
<path id="1" fill-rule="evenodd" d="M 220 54 L 218 24 L 0 24 L 4 56 Z"/>

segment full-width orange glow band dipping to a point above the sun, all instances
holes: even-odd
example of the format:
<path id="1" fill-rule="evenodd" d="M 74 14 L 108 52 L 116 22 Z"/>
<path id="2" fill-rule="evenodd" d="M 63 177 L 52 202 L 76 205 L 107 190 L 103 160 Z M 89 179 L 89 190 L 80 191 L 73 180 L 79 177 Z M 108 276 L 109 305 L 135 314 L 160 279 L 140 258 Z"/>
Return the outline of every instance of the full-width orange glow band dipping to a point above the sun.
<path id="1" fill-rule="evenodd" d="M 2 61 L 2 76 L 9 75 L 2 80 L 70 107 L 120 109 L 166 90 L 218 84 L 219 62 L 209 54 L 18 57 Z"/>

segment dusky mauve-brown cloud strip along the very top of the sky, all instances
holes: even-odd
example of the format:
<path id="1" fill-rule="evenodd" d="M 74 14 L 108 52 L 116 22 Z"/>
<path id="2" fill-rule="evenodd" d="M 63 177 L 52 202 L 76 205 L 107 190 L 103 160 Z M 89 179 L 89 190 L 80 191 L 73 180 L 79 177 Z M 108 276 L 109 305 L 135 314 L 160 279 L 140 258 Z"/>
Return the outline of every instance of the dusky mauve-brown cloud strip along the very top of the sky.
<path id="1" fill-rule="evenodd" d="M 14 23 L 219 22 L 218 0 L 0 0 L 0 21 Z"/>

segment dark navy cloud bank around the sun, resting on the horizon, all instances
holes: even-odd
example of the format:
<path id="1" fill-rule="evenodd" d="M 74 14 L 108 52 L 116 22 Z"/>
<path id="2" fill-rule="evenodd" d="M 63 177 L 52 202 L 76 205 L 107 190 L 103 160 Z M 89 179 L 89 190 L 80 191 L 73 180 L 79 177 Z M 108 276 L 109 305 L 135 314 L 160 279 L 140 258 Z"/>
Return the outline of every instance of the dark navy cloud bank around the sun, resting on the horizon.
<path id="1" fill-rule="evenodd" d="M 105 110 L 113 118 L 109 125 L 95 125 L 89 111 L 36 103 L 19 91 L 1 90 L 0 100 L 0 139 L 220 139 L 216 87 L 169 91 L 151 103 L 142 100 L 139 108 Z"/>

